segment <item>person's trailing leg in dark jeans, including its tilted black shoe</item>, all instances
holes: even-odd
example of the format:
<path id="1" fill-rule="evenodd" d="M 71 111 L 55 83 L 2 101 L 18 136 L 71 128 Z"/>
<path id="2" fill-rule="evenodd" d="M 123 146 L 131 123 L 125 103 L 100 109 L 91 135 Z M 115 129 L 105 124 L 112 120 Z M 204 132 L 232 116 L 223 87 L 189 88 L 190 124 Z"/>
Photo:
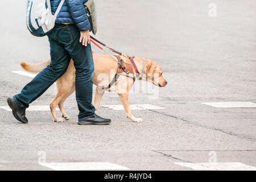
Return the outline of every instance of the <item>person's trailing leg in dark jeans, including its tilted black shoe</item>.
<path id="1" fill-rule="evenodd" d="M 51 47 L 51 64 L 28 83 L 19 94 L 7 100 L 16 119 L 27 122 L 25 117 L 26 107 L 41 96 L 65 71 L 67 71 L 71 57 L 65 51 L 64 46 L 56 42 L 49 35 Z"/>

